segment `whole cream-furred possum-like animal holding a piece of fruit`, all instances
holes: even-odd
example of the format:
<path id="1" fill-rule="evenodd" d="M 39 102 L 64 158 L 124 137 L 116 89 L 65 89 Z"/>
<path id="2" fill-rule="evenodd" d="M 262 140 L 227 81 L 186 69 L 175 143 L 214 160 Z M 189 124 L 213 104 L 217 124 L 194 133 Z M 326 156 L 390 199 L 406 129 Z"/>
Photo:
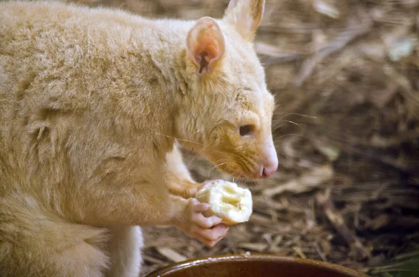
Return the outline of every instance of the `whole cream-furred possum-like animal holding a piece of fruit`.
<path id="1" fill-rule="evenodd" d="M 263 4 L 191 22 L 0 3 L 0 276 L 138 276 L 138 225 L 225 236 L 175 140 L 235 177 L 276 170 Z"/>

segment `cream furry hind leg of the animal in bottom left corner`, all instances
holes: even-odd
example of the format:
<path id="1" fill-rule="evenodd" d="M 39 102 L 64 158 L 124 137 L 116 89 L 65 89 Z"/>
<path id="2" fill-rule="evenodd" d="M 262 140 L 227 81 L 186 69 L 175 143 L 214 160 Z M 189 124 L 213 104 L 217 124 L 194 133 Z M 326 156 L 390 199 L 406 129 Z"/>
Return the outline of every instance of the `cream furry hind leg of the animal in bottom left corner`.
<path id="1" fill-rule="evenodd" d="M 30 197 L 0 197 L 1 277 L 102 277 L 105 230 L 69 223 Z"/>

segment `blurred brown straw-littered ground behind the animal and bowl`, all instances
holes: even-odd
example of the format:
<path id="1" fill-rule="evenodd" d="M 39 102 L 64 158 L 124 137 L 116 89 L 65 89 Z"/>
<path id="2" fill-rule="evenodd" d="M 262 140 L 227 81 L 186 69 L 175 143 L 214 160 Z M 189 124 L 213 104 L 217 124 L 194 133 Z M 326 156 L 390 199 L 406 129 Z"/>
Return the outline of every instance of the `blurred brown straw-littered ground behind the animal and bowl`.
<path id="1" fill-rule="evenodd" d="M 228 0 L 84 0 L 146 17 L 222 17 Z M 144 270 L 276 253 L 419 276 L 419 0 L 267 0 L 256 50 L 276 95 L 279 170 L 214 248 L 145 228 Z M 186 154 L 197 181 L 224 178 Z"/>

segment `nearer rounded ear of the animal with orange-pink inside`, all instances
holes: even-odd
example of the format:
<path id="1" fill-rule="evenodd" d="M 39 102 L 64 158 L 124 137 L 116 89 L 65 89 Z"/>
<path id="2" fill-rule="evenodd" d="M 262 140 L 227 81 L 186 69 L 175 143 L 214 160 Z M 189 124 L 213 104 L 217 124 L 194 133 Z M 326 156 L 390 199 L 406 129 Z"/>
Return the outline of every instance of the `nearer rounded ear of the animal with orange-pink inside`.
<path id="1" fill-rule="evenodd" d="M 211 17 L 200 18 L 186 36 L 186 50 L 198 74 L 214 70 L 225 47 L 221 28 Z"/>

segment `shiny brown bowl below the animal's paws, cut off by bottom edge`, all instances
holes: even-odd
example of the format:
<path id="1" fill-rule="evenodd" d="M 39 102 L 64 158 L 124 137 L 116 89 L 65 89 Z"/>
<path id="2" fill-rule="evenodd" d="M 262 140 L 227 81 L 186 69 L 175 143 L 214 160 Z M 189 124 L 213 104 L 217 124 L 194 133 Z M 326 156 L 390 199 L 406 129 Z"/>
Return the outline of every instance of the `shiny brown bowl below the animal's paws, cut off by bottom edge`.
<path id="1" fill-rule="evenodd" d="M 367 277 L 328 262 L 267 254 L 222 255 L 172 264 L 147 277 Z"/>

